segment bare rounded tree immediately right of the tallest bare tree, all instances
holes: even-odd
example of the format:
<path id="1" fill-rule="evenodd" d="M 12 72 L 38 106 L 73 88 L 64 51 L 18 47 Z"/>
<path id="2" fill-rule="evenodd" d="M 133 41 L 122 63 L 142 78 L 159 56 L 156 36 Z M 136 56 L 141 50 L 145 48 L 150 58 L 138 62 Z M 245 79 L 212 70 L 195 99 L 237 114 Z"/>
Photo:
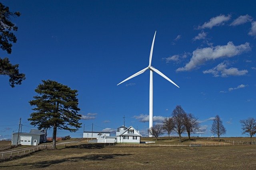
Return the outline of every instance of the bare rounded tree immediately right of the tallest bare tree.
<path id="1" fill-rule="evenodd" d="M 196 118 L 193 114 L 185 114 L 184 116 L 184 126 L 186 127 L 186 131 L 188 133 L 188 139 L 190 140 L 190 134 L 199 130 L 200 126 L 198 124 L 198 118 Z"/>

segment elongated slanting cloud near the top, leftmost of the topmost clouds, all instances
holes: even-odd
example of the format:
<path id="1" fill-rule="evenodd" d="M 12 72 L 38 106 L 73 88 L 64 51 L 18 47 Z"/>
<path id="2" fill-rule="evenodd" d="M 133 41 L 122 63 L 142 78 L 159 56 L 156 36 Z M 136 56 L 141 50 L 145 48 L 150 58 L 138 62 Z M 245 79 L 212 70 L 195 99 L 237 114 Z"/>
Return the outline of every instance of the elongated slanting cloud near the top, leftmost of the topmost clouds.
<path id="1" fill-rule="evenodd" d="M 231 15 L 225 16 L 220 14 L 219 16 L 213 17 L 208 22 L 204 22 L 202 26 L 198 26 L 198 29 L 212 28 L 214 26 L 224 25 L 224 22 L 230 20 Z"/>

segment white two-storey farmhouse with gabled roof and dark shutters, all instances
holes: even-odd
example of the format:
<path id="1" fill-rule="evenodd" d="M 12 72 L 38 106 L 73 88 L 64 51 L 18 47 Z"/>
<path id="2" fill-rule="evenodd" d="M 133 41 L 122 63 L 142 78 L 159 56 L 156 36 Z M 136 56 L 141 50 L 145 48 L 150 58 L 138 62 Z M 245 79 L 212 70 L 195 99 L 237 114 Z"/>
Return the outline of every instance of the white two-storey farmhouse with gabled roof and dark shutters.
<path id="1" fill-rule="evenodd" d="M 138 130 L 130 126 L 121 126 L 116 132 L 116 142 L 117 143 L 140 143 L 140 137 L 142 135 Z"/>

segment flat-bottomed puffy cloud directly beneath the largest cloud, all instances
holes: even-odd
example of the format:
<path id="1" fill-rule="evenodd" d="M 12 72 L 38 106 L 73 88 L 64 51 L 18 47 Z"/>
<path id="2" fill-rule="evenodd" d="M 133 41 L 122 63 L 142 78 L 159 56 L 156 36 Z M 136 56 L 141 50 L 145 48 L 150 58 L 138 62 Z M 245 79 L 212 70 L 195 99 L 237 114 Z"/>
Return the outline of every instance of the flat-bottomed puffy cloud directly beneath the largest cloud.
<path id="1" fill-rule="evenodd" d="M 237 68 L 226 68 L 227 64 L 224 62 L 218 64 L 218 66 L 203 71 L 204 74 L 210 73 L 213 74 L 214 77 L 222 76 L 222 77 L 228 77 L 228 76 L 244 76 L 248 73 L 247 70 L 238 70 Z"/>

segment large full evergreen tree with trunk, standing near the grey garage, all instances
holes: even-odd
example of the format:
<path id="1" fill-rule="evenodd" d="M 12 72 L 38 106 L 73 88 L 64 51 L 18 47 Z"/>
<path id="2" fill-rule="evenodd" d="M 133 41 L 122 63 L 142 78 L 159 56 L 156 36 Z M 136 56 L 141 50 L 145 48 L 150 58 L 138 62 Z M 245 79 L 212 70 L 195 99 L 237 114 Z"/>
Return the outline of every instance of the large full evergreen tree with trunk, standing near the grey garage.
<path id="1" fill-rule="evenodd" d="M 42 82 L 35 89 L 39 95 L 29 101 L 35 107 L 28 120 L 38 129 L 53 128 L 53 149 L 56 149 L 57 128 L 76 132 L 81 127 L 82 123 L 78 122 L 81 119 L 76 98 L 78 91 L 52 80 Z"/>

